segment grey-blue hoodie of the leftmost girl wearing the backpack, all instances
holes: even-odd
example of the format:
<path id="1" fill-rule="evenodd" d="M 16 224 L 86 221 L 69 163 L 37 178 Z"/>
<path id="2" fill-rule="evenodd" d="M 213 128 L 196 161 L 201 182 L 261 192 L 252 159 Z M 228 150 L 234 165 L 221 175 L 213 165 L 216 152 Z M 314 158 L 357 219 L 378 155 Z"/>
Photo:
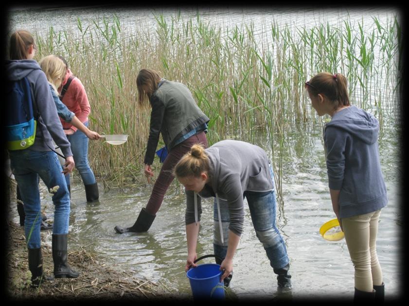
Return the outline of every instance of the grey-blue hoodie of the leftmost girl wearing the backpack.
<path id="1" fill-rule="evenodd" d="M 10 80 L 27 77 L 33 89 L 35 117 L 38 108 L 42 119 L 37 119 L 36 140 L 27 150 L 51 151 L 54 140 L 65 157 L 72 156 L 71 145 L 58 117 L 50 85 L 38 63 L 35 60 L 7 60 L 6 75 Z"/>

